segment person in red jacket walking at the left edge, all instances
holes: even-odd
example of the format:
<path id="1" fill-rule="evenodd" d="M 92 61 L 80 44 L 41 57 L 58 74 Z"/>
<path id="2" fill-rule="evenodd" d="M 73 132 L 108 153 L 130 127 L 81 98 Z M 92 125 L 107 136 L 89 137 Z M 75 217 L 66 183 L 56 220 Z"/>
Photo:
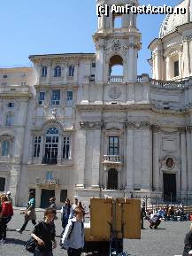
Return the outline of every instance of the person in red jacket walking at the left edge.
<path id="1" fill-rule="evenodd" d="M 11 221 L 13 215 L 12 202 L 8 201 L 6 195 L 1 196 L 1 210 L 0 210 L 0 242 L 6 241 L 7 224 Z"/>

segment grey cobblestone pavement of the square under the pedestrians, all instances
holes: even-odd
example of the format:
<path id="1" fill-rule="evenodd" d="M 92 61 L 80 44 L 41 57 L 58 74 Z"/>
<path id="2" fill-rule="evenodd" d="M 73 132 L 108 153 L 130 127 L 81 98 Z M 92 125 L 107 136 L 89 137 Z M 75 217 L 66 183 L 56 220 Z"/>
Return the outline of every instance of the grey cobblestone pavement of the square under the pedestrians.
<path id="1" fill-rule="evenodd" d="M 59 217 L 59 214 L 58 214 Z M 42 213 L 37 213 L 38 220 L 41 220 Z M 19 229 L 23 223 L 23 215 L 19 211 L 14 212 L 12 221 L 8 225 L 7 243 L 0 244 L 0 256 L 32 256 L 23 246 L 30 232 L 33 229 L 31 222 L 28 223 L 26 231 L 20 235 L 15 229 Z M 136 256 L 169 256 L 181 255 L 183 250 L 183 240 L 188 232 L 190 221 L 162 221 L 159 229 L 149 229 L 149 222 L 145 221 L 145 228 L 142 230 L 141 240 L 124 241 L 125 251 Z M 61 232 L 60 220 L 56 221 L 57 240 Z M 54 250 L 54 256 L 66 256 L 65 250 L 58 248 Z M 98 255 L 100 256 L 100 255 Z"/>

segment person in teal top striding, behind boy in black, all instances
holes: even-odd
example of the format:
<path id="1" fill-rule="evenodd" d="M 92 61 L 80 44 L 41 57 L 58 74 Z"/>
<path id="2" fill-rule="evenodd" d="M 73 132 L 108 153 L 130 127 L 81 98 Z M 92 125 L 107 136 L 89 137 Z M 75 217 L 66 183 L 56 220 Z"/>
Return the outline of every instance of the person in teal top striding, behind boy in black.
<path id="1" fill-rule="evenodd" d="M 25 218 L 24 224 L 21 227 L 21 229 L 16 229 L 16 231 L 18 231 L 20 234 L 22 234 L 23 230 L 26 229 L 28 221 L 32 221 L 34 226 L 36 224 L 36 221 L 35 221 L 36 220 L 35 193 L 34 192 L 29 193 L 29 200 L 26 205 L 26 211 L 24 211 L 23 213 L 24 213 L 24 218 Z"/>

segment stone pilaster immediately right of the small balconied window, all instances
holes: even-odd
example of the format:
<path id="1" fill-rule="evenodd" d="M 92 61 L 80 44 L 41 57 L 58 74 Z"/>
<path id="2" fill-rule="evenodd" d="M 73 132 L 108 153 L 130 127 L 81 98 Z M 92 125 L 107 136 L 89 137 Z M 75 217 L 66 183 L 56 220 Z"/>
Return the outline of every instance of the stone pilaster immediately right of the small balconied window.
<path id="1" fill-rule="evenodd" d="M 134 190 L 134 124 L 127 124 L 127 190 Z"/>

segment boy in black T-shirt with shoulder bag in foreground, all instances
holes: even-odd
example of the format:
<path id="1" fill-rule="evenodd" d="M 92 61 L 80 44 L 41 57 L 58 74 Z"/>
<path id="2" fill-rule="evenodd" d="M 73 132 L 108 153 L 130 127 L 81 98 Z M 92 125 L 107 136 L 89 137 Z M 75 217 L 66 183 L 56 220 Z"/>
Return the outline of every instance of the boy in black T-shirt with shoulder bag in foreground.
<path id="1" fill-rule="evenodd" d="M 35 225 L 35 229 L 31 234 L 31 237 L 37 241 L 34 256 L 53 256 L 52 248 L 55 249 L 57 247 L 54 218 L 55 210 L 47 208 L 44 212 L 43 221 Z"/>

